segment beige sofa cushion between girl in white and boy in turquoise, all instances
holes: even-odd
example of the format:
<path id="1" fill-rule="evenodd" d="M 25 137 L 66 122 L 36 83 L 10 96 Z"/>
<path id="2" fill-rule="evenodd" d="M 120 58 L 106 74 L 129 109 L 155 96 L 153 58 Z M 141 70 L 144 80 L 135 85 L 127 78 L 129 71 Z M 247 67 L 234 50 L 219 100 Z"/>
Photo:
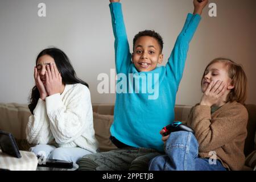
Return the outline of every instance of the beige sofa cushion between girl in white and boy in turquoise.
<path id="1" fill-rule="evenodd" d="M 99 149 L 101 152 L 114 150 L 117 147 L 111 142 L 110 126 L 113 123 L 113 115 L 102 115 L 93 113 L 93 126 L 95 131 L 95 137 L 99 142 Z"/>

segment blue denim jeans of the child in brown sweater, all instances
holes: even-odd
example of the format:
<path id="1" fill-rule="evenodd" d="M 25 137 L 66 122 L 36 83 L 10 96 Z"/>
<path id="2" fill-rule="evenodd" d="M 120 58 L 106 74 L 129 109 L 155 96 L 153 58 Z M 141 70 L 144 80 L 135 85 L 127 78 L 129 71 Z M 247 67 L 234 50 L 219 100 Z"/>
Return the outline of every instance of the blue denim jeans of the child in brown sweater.
<path id="1" fill-rule="evenodd" d="M 150 171 L 226 171 L 220 160 L 199 158 L 196 137 L 187 131 L 176 131 L 167 139 L 166 155 L 149 163 Z"/>

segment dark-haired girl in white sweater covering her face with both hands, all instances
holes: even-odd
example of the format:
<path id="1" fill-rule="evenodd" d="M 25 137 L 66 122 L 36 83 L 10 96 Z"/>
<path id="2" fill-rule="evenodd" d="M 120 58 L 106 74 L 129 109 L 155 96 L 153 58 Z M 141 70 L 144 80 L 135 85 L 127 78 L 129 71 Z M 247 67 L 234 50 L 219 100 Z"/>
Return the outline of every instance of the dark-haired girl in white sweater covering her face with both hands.
<path id="1" fill-rule="evenodd" d="M 57 48 L 44 49 L 36 59 L 34 78 L 26 128 L 28 143 L 35 144 L 31 151 L 73 163 L 95 153 L 90 91 L 76 77 L 67 55 Z"/>

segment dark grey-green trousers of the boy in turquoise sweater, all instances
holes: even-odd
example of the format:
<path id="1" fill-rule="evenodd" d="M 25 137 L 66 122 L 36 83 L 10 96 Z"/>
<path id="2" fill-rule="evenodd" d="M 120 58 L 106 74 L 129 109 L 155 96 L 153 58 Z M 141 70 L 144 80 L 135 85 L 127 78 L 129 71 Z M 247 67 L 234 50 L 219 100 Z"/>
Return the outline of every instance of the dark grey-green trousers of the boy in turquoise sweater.
<path id="1" fill-rule="evenodd" d="M 162 153 L 150 148 L 121 148 L 89 154 L 77 161 L 85 171 L 147 171 L 152 158 Z"/>

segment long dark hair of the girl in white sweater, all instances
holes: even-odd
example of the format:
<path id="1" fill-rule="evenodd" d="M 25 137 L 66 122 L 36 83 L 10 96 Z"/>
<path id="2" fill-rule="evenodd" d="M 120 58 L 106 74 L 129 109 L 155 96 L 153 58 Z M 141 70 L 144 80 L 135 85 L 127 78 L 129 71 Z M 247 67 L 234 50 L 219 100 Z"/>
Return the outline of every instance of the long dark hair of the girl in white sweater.
<path id="1" fill-rule="evenodd" d="M 36 57 L 36 63 L 38 62 L 39 57 L 49 55 L 51 56 L 56 64 L 56 67 L 58 68 L 60 75 L 62 77 L 62 82 L 64 84 L 82 84 L 89 88 L 89 85 L 82 81 L 81 79 L 77 78 L 76 72 L 74 68 L 71 65 L 71 62 L 68 58 L 68 56 L 57 48 L 47 48 L 41 51 Z M 38 100 L 40 98 L 39 90 L 36 86 L 32 88 L 31 96 L 30 96 L 30 104 L 28 105 L 28 108 L 30 109 L 30 112 L 33 114 L 33 111 L 36 107 L 36 104 L 38 104 Z"/>

